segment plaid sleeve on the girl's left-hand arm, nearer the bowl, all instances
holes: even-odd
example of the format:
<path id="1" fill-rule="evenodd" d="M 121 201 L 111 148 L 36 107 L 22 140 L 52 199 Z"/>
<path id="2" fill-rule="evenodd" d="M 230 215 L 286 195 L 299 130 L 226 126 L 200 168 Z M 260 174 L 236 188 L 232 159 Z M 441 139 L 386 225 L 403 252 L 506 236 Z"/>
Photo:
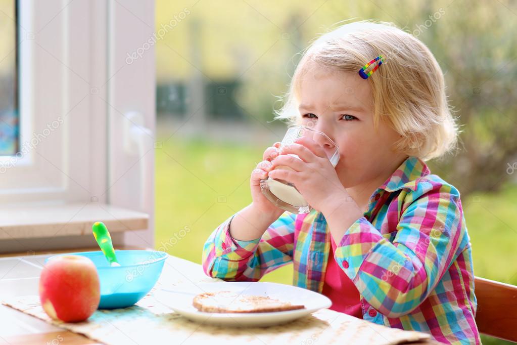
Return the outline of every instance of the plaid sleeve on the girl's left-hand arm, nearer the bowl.
<path id="1" fill-rule="evenodd" d="M 203 247 L 203 270 L 208 276 L 257 281 L 293 260 L 295 214 L 284 212 L 253 241 L 237 241 L 230 236 L 234 216 L 217 227 Z"/>

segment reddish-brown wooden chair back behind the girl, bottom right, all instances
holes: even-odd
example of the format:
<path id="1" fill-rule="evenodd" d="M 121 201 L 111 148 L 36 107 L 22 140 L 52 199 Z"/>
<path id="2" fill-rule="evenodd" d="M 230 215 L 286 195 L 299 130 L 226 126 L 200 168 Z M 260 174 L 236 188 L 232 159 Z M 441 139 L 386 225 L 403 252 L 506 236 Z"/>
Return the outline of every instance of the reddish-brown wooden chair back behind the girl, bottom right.
<path id="1" fill-rule="evenodd" d="M 517 286 L 476 277 L 480 333 L 517 342 Z"/>

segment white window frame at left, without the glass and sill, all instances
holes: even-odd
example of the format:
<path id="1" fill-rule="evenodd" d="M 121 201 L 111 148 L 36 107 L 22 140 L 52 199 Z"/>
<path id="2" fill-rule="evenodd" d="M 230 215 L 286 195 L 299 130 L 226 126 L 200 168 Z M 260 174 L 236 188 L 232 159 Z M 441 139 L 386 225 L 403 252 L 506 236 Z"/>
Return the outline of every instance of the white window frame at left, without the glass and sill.
<path id="1" fill-rule="evenodd" d="M 19 0 L 19 25 L 20 143 L 41 140 L 0 175 L 0 202 L 140 211 L 148 229 L 114 242 L 153 247 L 154 47 L 126 58 L 153 34 L 154 2 Z"/>

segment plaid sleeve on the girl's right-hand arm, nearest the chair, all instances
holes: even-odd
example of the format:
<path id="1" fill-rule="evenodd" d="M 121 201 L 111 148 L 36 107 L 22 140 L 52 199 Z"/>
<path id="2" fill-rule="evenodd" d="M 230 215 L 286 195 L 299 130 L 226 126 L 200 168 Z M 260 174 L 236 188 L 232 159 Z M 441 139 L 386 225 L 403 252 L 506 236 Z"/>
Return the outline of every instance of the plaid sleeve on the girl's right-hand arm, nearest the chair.
<path id="1" fill-rule="evenodd" d="M 372 307 L 397 318 L 427 298 L 468 242 L 459 198 L 451 185 L 422 181 L 405 209 L 386 210 L 388 220 L 400 215 L 396 231 L 383 236 L 365 217 L 346 231 L 334 256 Z"/>

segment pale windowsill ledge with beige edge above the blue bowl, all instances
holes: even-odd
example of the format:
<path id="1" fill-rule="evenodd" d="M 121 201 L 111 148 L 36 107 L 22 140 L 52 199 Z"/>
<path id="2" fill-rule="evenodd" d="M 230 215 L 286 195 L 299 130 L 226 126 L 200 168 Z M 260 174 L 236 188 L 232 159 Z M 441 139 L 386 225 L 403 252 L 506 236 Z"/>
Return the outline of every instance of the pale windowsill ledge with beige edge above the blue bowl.
<path id="1" fill-rule="evenodd" d="M 0 209 L 0 239 L 86 235 L 102 221 L 110 233 L 145 230 L 149 215 L 99 203 L 10 206 Z"/>

